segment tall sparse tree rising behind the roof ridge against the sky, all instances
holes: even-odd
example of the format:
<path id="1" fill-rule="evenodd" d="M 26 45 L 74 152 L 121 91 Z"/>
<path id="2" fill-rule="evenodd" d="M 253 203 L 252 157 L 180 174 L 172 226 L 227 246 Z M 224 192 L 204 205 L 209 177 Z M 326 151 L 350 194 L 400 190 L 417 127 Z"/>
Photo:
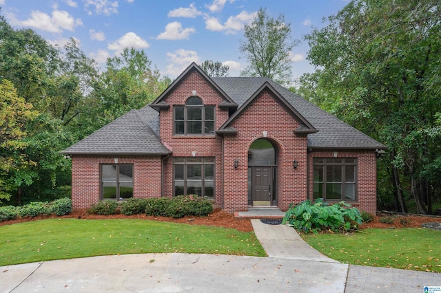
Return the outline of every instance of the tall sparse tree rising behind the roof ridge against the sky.
<path id="1" fill-rule="evenodd" d="M 245 40 L 240 41 L 240 52 L 247 58 L 248 66 L 242 76 L 263 76 L 281 84 L 291 82 L 289 52 L 298 41 L 291 41 L 291 23 L 285 23 L 280 14 L 270 18 L 266 9 L 260 8 L 254 21 L 244 28 Z"/>

